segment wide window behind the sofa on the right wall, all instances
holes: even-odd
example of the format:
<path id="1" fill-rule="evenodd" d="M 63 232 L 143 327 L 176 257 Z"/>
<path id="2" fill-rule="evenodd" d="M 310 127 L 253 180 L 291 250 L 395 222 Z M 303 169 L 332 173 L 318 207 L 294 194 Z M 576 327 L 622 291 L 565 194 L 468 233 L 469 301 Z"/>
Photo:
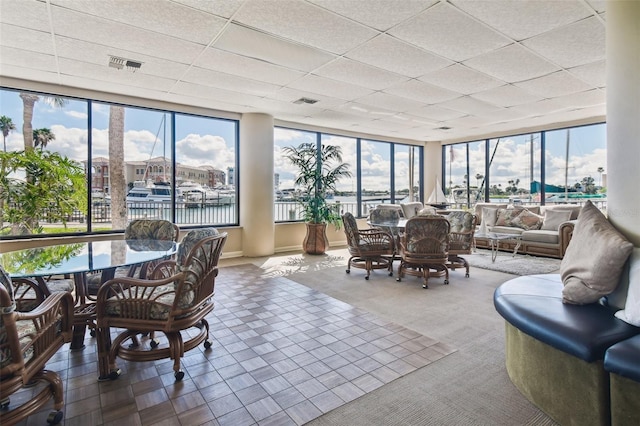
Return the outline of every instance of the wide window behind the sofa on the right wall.
<path id="1" fill-rule="evenodd" d="M 488 188 L 487 201 L 493 202 L 547 204 L 590 199 L 605 207 L 605 124 L 461 143 L 442 149 L 443 179 L 457 206 L 485 201 Z"/>

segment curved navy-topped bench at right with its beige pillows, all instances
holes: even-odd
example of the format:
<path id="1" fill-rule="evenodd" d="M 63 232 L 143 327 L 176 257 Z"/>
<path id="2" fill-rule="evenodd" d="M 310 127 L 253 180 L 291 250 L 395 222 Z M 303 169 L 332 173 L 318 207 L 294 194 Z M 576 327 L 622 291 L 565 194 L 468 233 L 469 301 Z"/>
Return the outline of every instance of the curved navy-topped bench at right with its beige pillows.
<path id="1" fill-rule="evenodd" d="M 602 222 L 583 216 L 560 274 L 517 277 L 494 293 L 507 373 L 562 425 L 637 425 L 640 248 L 599 240 Z"/>

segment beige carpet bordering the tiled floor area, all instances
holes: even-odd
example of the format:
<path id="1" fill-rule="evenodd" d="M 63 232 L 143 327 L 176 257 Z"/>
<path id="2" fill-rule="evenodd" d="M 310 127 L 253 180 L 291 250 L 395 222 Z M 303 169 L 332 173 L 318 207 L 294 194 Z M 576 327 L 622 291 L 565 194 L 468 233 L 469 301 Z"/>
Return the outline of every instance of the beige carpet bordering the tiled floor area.
<path id="1" fill-rule="evenodd" d="M 348 258 L 346 249 L 338 249 L 323 256 L 292 254 L 244 261 L 262 268 L 265 276 L 287 276 L 458 350 L 310 425 L 556 424 L 518 392 L 505 370 L 504 322 L 493 308 L 493 292 L 514 275 L 472 267 L 470 278 L 464 277 L 464 270 L 456 270 L 449 285 L 432 278 L 425 290 L 417 277 L 397 282 L 379 270 L 367 281 L 363 270 L 346 274 Z"/>

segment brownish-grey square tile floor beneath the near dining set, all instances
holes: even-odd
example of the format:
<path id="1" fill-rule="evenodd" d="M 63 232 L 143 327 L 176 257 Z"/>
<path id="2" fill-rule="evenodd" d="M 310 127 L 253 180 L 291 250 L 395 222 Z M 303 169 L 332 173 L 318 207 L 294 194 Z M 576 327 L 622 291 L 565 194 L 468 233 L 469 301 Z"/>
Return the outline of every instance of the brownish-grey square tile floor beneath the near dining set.
<path id="1" fill-rule="evenodd" d="M 208 318 L 213 347 L 185 354 L 181 382 L 170 360 L 118 360 L 120 378 L 98 383 L 93 339 L 78 352 L 65 345 L 47 364 L 64 381 L 63 424 L 301 425 L 454 351 L 261 272 L 222 268 Z M 48 412 L 22 424 L 46 424 Z"/>

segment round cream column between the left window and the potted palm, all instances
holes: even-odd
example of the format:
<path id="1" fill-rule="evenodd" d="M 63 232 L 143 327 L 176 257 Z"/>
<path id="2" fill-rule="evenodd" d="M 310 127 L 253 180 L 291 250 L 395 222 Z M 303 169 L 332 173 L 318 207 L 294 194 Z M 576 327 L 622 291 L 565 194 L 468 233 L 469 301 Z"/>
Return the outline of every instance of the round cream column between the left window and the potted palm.
<path id="1" fill-rule="evenodd" d="M 245 256 L 274 253 L 273 117 L 243 114 L 240 120 L 240 226 Z"/>

